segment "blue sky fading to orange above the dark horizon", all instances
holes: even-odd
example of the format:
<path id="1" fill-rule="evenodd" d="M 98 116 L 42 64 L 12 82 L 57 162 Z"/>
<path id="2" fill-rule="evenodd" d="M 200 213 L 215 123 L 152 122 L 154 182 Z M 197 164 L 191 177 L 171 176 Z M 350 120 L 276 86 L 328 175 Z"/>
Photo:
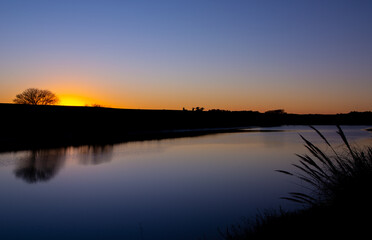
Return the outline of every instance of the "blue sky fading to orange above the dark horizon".
<path id="1" fill-rule="evenodd" d="M 372 110 L 369 0 L 1 0 L 0 102 Z"/>

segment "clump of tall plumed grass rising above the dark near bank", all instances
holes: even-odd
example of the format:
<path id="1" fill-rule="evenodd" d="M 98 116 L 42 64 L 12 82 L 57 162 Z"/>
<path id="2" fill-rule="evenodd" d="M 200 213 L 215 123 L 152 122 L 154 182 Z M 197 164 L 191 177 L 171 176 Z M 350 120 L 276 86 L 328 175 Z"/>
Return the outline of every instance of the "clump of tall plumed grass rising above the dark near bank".
<path id="1" fill-rule="evenodd" d="M 342 129 L 337 126 L 344 149 L 337 152 L 324 135 L 316 128 L 314 131 L 324 140 L 333 152 L 326 154 L 319 147 L 301 136 L 310 155 L 297 155 L 298 164 L 293 164 L 299 172 L 279 172 L 295 176 L 312 186 L 311 195 L 292 192 L 291 201 L 313 206 L 343 206 L 360 204 L 365 199 L 371 199 L 372 187 L 372 147 L 357 149 L 350 145 Z"/>

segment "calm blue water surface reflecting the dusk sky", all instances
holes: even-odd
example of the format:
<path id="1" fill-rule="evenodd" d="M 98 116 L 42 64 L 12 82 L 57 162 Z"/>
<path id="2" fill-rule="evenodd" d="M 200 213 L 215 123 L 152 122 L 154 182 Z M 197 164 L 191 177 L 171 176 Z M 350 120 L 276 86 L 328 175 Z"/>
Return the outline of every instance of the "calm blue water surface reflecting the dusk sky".
<path id="1" fill-rule="evenodd" d="M 345 126 L 372 145 L 368 126 Z M 0 154 L 0 239 L 218 239 L 217 228 L 258 210 L 299 207 L 276 169 L 306 153 L 306 126 L 113 146 Z M 332 143 L 336 128 L 319 126 Z"/>

